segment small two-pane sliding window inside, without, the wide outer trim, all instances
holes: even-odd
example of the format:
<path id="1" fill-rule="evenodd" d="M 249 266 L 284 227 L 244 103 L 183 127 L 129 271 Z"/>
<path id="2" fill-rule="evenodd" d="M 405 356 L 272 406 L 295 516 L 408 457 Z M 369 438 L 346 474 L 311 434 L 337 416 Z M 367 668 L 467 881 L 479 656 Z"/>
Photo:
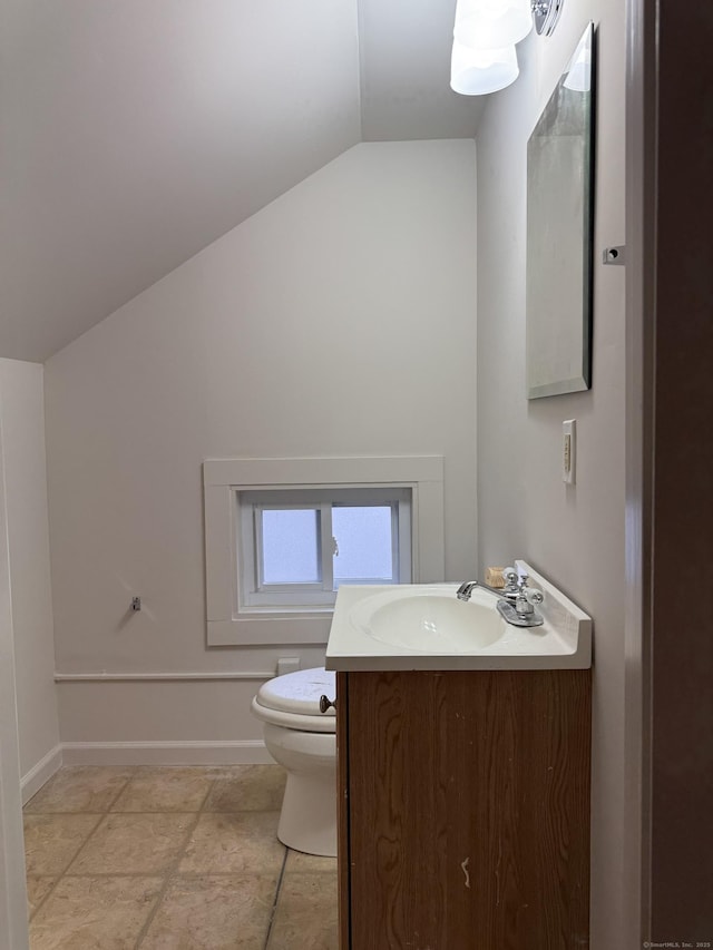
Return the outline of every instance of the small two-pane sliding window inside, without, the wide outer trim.
<path id="1" fill-rule="evenodd" d="M 411 580 L 411 489 L 236 491 L 241 607 L 333 605 L 340 584 Z"/>

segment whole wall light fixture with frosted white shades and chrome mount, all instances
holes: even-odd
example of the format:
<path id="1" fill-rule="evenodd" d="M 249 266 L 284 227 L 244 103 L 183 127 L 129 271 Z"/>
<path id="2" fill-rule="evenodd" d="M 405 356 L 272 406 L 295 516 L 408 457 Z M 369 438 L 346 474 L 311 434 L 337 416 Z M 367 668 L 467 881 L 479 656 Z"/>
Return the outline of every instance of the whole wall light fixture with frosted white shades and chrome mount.
<path id="1" fill-rule="evenodd" d="M 533 29 L 550 37 L 565 0 L 457 0 L 450 86 L 485 96 L 515 82 L 515 45 Z"/>

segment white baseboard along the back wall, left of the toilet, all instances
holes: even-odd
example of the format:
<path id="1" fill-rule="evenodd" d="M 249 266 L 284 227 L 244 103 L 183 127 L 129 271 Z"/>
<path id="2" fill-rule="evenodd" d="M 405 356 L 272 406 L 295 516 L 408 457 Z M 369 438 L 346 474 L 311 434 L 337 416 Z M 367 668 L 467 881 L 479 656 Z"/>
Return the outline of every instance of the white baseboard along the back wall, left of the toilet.
<path id="1" fill-rule="evenodd" d="M 62 754 L 65 765 L 268 765 L 274 762 L 261 740 L 65 742 Z"/>

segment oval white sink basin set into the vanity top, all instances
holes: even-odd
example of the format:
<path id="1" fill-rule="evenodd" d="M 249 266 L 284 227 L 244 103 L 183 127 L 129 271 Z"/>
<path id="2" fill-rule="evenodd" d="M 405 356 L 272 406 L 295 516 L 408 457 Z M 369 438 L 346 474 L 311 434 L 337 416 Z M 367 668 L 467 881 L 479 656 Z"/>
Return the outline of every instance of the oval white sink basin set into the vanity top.
<path id="1" fill-rule="evenodd" d="M 490 600 L 492 603 L 490 603 Z M 496 643 L 506 623 L 495 598 L 458 600 L 438 588 L 398 588 L 359 601 L 351 621 L 384 644 L 428 653 L 469 653 Z"/>

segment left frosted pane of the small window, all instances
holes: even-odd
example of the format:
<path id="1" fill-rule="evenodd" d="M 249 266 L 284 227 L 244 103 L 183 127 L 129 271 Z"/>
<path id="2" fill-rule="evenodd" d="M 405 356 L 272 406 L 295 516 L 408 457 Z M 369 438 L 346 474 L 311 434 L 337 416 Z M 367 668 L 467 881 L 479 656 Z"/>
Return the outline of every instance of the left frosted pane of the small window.
<path id="1" fill-rule="evenodd" d="M 319 584 L 319 537 L 314 508 L 263 511 L 263 582 Z"/>

